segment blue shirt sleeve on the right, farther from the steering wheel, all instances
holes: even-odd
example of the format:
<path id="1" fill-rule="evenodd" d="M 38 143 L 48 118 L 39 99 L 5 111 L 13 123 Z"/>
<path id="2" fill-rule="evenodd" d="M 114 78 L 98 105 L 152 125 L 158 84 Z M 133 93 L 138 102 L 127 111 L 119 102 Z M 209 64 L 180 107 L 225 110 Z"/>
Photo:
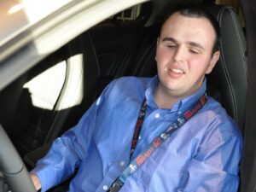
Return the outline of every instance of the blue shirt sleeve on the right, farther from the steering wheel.
<path id="1" fill-rule="evenodd" d="M 218 119 L 181 178 L 183 190 L 236 192 L 239 185 L 241 134 L 229 120 Z M 191 190 L 192 189 L 192 190 Z"/>

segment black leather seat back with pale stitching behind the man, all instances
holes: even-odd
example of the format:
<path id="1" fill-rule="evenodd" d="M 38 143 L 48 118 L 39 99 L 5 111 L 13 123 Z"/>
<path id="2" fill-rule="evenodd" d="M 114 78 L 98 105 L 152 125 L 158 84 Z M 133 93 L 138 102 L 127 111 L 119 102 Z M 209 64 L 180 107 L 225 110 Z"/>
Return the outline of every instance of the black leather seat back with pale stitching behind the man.
<path id="1" fill-rule="evenodd" d="M 246 38 L 235 9 L 220 5 L 207 9 L 218 20 L 221 31 L 221 57 L 208 75 L 207 84 L 219 91 L 219 102 L 243 132 L 247 94 Z"/>

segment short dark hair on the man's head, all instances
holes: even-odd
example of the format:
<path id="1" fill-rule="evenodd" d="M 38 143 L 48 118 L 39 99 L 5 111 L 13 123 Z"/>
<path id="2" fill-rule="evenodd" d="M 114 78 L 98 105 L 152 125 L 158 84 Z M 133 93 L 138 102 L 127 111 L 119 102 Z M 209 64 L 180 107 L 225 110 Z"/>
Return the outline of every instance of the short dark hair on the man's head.
<path id="1" fill-rule="evenodd" d="M 179 13 L 180 15 L 191 18 L 206 18 L 207 20 L 209 20 L 216 35 L 215 42 L 212 47 L 212 55 L 218 50 L 220 40 L 220 28 L 218 25 L 218 21 L 214 18 L 212 14 L 210 14 L 206 9 L 202 8 L 200 5 L 185 4 L 177 6 L 175 9 L 172 9 L 171 14 L 169 14 L 163 21 L 160 27 L 160 32 L 162 31 L 162 27 L 166 23 L 166 20 L 168 20 L 175 13 Z"/>

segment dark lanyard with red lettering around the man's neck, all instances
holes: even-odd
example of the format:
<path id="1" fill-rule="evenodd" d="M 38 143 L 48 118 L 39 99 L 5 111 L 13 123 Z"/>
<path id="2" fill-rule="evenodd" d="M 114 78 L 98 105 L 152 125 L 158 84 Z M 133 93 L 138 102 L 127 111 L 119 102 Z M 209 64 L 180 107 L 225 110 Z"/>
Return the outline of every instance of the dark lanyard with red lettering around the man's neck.
<path id="1" fill-rule="evenodd" d="M 181 113 L 177 117 L 177 119 L 166 128 L 166 131 L 163 131 L 160 134 L 160 136 L 156 137 L 153 140 L 153 142 L 149 143 L 148 146 L 144 148 L 143 151 L 140 154 L 138 154 L 134 160 L 131 161 L 129 166 L 125 168 L 125 171 L 122 172 L 122 174 L 112 183 L 108 192 L 118 192 L 119 189 L 121 189 L 122 186 L 124 185 L 126 178 L 130 176 L 133 172 L 136 172 L 137 169 L 143 165 L 145 160 L 147 160 L 148 157 L 154 153 L 155 149 L 159 148 L 160 145 L 164 143 L 166 139 L 170 137 L 174 131 L 176 131 L 178 128 L 184 125 L 190 118 L 192 118 L 195 115 L 195 113 L 197 113 L 206 104 L 206 102 L 207 102 L 207 94 L 204 94 L 203 96 L 201 96 L 200 100 L 192 104 L 187 111 L 185 111 L 184 113 Z M 146 100 L 144 99 L 142 107 L 140 109 L 139 116 L 137 118 L 137 124 L 136 124 L 136 128 L 132 138 L 132 142 L 131 142 L 130 158 L 137 145 L 137 139 L 139 137 L 139 133 L 141 131 L 141 128 L 143 125 L 143 119 L 146 112 L 146 105 L 147 105 Z"/>

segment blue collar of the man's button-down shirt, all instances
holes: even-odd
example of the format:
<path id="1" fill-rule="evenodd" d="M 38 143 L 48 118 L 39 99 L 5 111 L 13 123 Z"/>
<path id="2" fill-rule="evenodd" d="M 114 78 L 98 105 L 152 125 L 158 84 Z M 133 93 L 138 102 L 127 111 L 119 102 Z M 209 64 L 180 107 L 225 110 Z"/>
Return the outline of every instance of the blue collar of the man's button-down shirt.
<path id="1" fill-rule="evenodd" d="M 154 102 L 154 91 L 157 85 L 159 84 L 158 76 L 154 76 L 154 78 L 149 81 L 146 91 L 145 91 L 145 97 L 147 99 L 148 106 L 153 109 L 157 109 L 157 105 Z M 187 96 L 176 103 L 170 108 L 171 112 L 177 112 L 177 111 L 185 111 L 188 109 L 191 105 L 191 103 L 198 101 L 201 96 L 205 94 L 207 90 L 207 79 L 205 78 L 203 84 L 201 85 L 200 89 L 197 90 L 193 95 Z"/>

